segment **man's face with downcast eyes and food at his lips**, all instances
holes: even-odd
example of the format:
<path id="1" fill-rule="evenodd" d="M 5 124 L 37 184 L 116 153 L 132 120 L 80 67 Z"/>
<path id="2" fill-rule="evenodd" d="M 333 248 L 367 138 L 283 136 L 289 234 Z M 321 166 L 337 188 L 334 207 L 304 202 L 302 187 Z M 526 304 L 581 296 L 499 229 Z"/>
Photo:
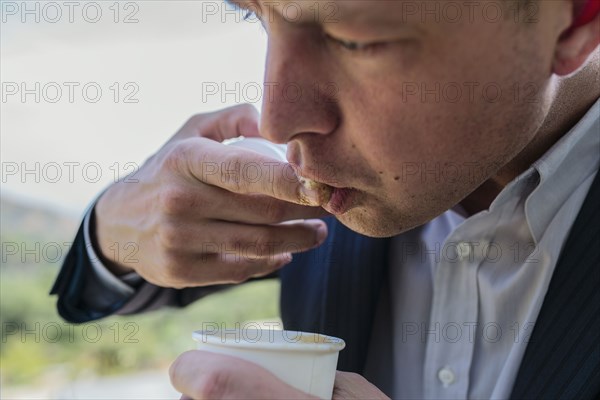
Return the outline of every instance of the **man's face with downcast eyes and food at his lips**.
<path id="1" fill-rule="evenodd" d="M 240 2 L 242 6 L 249 3 Z M 391 236 L 453 207 L 535 136 L 551 92 L 556 4 L 261 1 L 261 133 L 325 208 Z"/>

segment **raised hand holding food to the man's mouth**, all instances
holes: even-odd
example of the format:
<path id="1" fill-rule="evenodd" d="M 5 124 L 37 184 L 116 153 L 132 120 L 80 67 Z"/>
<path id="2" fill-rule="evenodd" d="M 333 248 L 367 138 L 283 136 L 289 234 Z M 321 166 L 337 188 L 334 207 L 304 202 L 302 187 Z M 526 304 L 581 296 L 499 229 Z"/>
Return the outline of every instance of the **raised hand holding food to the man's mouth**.
<path id="1" fill-rule="evenodd" d="M 324 241 L 320 220 L 278 225 L 324 215 L 300 205 L 326 199 L 300 184 L 289 164 L 220 143 L 259 136 L 257 121 L 249 105 L 194 116 L 133 177 L 101 196 L 96 242 L 113 272 L 135 270 L 175 288 L 239 283 Z M 131 244 L 135 256 L 117 258 L 114 246 Z"/>

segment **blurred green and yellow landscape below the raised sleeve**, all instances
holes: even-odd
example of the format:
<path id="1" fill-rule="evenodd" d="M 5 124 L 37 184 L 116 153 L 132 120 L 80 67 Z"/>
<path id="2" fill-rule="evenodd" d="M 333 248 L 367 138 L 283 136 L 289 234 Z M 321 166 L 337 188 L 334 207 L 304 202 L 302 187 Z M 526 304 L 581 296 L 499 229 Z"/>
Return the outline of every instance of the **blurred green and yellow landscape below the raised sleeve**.
<path id="1" fill-rule="evenodd" d="M 230 328 L 278 318 L 279 282 L 268 280 L 214 294 L 185 309 L 67 324 L 56 312 L 56 297 L 48 293 L 79 221 L 6 198 L 1 211 L 3 398 L 58 397 L 70 382 L 147 370 L 161 371 L 168 381 L 165 371 L 178 354 L 194 347 L 191 332 L 202 323 Z"/>

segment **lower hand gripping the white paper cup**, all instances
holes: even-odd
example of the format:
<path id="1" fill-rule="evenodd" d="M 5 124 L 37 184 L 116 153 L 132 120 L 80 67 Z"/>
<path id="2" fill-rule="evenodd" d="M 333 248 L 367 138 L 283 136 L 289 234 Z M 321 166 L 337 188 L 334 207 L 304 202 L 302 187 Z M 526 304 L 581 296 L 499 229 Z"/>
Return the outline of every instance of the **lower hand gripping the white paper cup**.
<path id="1" fill-rule="evenodd" d="M 206 351 L 180 355 L 169 369 L 182 399 L 315 399 L 251 362 Z M 389 399 L 358 374 L 338 371 L 333 399 Z"/>

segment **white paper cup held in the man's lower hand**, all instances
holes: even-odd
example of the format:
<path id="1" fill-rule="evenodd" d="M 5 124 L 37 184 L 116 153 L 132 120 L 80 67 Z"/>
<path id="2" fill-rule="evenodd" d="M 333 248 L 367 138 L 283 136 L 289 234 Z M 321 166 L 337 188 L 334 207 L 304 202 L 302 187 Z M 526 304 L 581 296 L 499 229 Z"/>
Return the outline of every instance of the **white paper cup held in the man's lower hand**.
<path id="1" fill-rule="evenodd" d="M 298 331 L 231 329 L 195 331 L 198 350 L 253 362 L 287 384 L 321 399 L 331 399 L 342 339 Z"/>

